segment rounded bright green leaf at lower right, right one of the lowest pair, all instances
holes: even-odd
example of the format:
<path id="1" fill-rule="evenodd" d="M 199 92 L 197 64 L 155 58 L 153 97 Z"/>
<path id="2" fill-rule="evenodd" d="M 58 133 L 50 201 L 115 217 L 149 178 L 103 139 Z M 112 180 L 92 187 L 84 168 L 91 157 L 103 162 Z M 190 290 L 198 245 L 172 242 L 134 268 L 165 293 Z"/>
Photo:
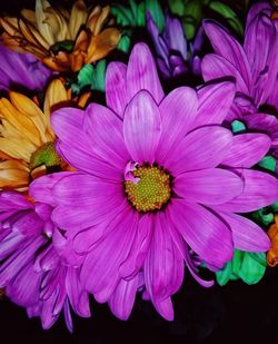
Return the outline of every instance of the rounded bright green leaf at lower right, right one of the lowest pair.
<path id="1" fill-rule="evenodd" d="M 247 284 L 258 283 L 266 272 L 265 253 L 244 253 L 239 277 Z"/>

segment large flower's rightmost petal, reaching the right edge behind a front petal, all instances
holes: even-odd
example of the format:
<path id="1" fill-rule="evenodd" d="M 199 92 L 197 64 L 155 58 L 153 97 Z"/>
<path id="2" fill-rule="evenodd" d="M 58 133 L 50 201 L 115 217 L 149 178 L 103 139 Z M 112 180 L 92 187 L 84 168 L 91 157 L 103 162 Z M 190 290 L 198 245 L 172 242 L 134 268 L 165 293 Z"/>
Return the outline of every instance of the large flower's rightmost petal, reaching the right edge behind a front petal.
<path id="1" fill-rule="evenodd" d="M 264 208 L 278 200 L 278 180 L 258 170 L 236 170 L 245 181 L 240 196 L 227 204 L 215 206 L 220 212 L 249 213 Z"/>

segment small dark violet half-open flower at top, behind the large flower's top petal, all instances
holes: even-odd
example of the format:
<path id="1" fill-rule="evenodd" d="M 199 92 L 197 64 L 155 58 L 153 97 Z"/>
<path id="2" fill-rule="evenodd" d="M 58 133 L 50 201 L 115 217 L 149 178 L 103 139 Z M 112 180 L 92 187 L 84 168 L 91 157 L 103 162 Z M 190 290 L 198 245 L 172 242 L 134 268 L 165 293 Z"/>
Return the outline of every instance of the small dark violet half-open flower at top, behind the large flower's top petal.
<path id="1" fill-rule="evenodd" d="M 155 45 L 157 63 L 163 78 L 171 78 L 187 72 L 201 73 L 198 52 L 202 46 L 202 29 L 198 31 L 195 41 L 190 43 L 190 52 L 188 52 L 182 24 L 178 18 L 171 18 L 167 13 L 166 27 L 160 35 L 151 14 L 148 12 L 147 28 Z"/>

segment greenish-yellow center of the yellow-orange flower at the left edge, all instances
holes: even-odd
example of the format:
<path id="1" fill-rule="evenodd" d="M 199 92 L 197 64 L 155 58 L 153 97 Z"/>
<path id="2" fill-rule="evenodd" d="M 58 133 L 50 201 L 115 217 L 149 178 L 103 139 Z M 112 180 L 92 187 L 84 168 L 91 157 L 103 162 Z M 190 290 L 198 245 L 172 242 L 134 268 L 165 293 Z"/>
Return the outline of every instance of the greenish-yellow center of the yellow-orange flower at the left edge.
<path id="1" fill-rule="evenodd" d="M 61 158 L 56 151 L 54 142 L 47 142 L 32 154 L 29 165 L 30 170 L 42 165 L 49 170 L 60 169 Z"/>

